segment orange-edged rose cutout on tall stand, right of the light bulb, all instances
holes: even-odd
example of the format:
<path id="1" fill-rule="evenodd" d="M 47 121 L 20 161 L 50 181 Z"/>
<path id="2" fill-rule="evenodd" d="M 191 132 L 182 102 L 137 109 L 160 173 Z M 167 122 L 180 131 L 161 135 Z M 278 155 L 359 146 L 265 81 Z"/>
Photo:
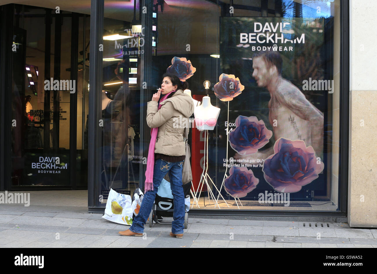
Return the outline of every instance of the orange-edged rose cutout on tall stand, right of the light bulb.
<path id="1" fill-rule="evenodd" d="M 239 78 L 233 74 L 222 73 L 219 77 L 219 82 L 215 84 L 213 90 L 215 95 L 221 101 L 231 101 L 234 97 L 241 94 L 245 86 L 242 86 Z"/>

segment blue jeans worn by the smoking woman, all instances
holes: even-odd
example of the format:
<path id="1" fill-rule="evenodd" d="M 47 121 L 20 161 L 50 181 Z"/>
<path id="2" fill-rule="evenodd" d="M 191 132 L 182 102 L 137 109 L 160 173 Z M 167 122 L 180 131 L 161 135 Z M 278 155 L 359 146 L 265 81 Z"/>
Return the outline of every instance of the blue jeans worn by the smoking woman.
<path id="1" fill-rule="evenodd" d="M 172 188 L 174 199 L 174 212 L 172 222 L 172 232 L 174 234 L 182 234 L 185 219 L 185 202 L 182 187 L 182 165 L 184 161 L 167 162 L 161 159 L 155 161 L 153 169 L 153 190 L 147 191 L 144 194 L 141 202 L 140 210 L 135 219 L 132 220 L 132 225 L 129 228 L 132 232 L 143 233 L 144 225 L 147 222 L 153 203 L 155 202 L 158 186 L 162 179 L 169 172 L 170 187 Z M 149 220 L 153 222 L 153 220 Z"/>

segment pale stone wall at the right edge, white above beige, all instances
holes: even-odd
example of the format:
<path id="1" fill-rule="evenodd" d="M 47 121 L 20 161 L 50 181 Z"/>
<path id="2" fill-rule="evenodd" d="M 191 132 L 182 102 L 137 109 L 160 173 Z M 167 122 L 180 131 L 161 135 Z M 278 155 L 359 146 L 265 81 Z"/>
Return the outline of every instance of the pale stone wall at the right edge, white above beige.
<path id="1" fill-rule="evenodd" d="M 377 227 L 377 1 L 350 1 L 348 223 Z"/>

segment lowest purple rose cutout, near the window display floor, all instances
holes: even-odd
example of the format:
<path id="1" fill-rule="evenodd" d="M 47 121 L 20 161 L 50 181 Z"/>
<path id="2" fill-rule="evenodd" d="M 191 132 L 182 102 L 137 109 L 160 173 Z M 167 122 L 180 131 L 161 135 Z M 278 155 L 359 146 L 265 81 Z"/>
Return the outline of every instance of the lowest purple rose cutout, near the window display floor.
<path id="1" fill-rule="evenodd" d="M 234 198 L 245 197 L 259 183 L 259 179 L 247 167 L 231 167 L 229 174 L 224 180 L 224 188 Z"/>

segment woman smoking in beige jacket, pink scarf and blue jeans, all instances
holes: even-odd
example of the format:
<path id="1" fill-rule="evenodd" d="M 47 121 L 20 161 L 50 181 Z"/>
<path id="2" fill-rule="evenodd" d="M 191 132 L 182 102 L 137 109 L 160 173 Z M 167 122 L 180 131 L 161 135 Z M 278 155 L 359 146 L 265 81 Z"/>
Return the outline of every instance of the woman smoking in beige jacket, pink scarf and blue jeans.
<path id="1" fill-rule="evenodd" d="M 194 112 L 191 96 L 183 92 L 187 87 L 187 82 L 180 81 L 177 76 L 164 74 L 161 89 L 153 95 L 152 101 L 148 102 L 147 124 L 152 130 L 147 160 L 146 193 L 129 230 L 119 232 L 123 236 L 143 235 L 144 224 L 152 210 L 158 187 L 168 172 L 174 197 L 174 221 L 170 236 L 183 236 L 185 204 L 182 165 L 186 154 L 183 139 L 185 127 L 177 126 L 175 122 L 188 119 Z M 164 97 L 159 100 L 161 94 Z M 150 219 L 149 222 L 153 220 Z"/>

